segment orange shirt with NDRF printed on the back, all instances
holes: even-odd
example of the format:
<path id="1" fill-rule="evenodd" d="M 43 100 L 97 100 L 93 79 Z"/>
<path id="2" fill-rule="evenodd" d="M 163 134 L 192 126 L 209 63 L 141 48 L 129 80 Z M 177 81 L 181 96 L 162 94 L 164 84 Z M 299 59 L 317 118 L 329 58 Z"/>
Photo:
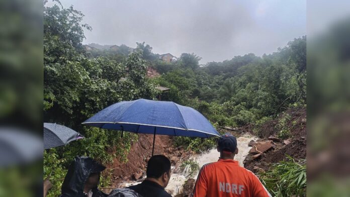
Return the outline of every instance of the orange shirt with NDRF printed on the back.
<path id="1" fill-rule="evenodd" d="M 255 174 L 239 166 L 238 161 L 219 159 L 202 167 L 191 196 L 269 197 L 271 195 Z"/>

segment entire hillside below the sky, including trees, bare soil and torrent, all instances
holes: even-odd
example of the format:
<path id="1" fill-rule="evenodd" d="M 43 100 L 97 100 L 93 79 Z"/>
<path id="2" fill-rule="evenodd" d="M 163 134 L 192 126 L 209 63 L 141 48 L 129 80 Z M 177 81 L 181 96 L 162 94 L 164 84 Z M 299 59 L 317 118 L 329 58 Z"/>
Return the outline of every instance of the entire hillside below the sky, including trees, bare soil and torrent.
<path id="1" fill-rule="evenodd" d="M 85 137 L 44 151 L 44 178 L 54 184 L 49 196 L 59 195 L 67 166 L 77 155 L 90 156 L 108 166 L 101 187 L 129 184 L 144 177 L 151 137 L 130 133 L 122 137 L 121 131 L 81 125 L 112 104 L 140 98 L 161 98 L 192 107 L 221 134 L 234 130 L 245 140 L 266 140 L 274 135 L 283 140 L 290 138 L 288 145 L 274 142 L 274 150 L 257 160 L 247 160 L 245 166 L 268 170 L 272 162 L 289 154 L 296 160 L 288 165 L 301 166 L 304 174 L 306 169 L 297 159 L 305 158 L 306 36 L 295 38 L 269 55 L 249 53 L 200 66 L 201 57 L 194 53 L 182 53 L 177 61 L 162 61 L 144 42 L 136 43 L 135 50 L 121 45 L 86 51 L 81 43 L 85 38 L 83 28 L 91 27 L 81 26 L 82 18 L 83 14 L 73 8 L 44 8 L 44 122 L 65 125 Z M 147 68 L 152 68 L 149 73 Z M 168 90 L 161 92 L 157 86 Z M 222 127 L 232 129 L 220 130 Z M 248 151 L 248 142 L 244 143 L 242 148 Z M 177 170 L 174 178 L 179 180 L 172 180 L 173 194 L 180 194 L 188 172 L 193 171 L 193 175 L 198 170 L 196 161 L 189 159 L 208 151 L 217 159 L 215 146 L 215 138 L 157 136 L 156 153 L 170 157 Z M 267 187 L 276 190 L 273 185 Z M 305 192 L 305 185 L 294 188 Z M 295 193 L 291 190 L 287 195 Z"/>

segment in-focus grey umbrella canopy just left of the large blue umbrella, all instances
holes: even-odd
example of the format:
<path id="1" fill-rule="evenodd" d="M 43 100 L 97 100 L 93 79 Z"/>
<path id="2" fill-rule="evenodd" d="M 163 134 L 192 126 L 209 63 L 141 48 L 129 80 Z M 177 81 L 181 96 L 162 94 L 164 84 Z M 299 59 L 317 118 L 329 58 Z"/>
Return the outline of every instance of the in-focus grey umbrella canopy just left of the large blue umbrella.
<path id="1" fill-rule="evenodd" d="M 66 126 L 44 123 L 44 149 L 63 146 L 80 138 L 83 136 Z"/>

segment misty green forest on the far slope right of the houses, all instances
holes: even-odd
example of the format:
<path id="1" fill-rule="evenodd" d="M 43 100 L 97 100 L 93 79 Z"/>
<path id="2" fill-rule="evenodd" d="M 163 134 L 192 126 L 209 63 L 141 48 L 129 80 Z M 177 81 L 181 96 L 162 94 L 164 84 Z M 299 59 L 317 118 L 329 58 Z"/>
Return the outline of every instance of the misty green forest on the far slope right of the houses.
<path id="1" fill-rule="evenodd" d="M 174 63 L 157 60 L 149 64 L 163 72 L 153 79 L 154 83 L 170 88 L 162 95 L 163 100 L 191 106 L 214 125 L 258 126 L 289 107 L 306 105 L 305 36 L 271 55 L 247 54 L 223 62 L 209 62 L 203 67 L 198 60 L 194 54 L 182 54 Z M 188 66 L 186 62 L 196 64 Z M 280 137 L 287 138 L 289 131 L 280 130 Z M 196 141 L 198 146 L 193 146 Z M 208 146 L 199 141 L 176 139 L 177 145 L 197 152 L 206 150 Z M 215 145 L 213 139 L 209 141 Z"/>

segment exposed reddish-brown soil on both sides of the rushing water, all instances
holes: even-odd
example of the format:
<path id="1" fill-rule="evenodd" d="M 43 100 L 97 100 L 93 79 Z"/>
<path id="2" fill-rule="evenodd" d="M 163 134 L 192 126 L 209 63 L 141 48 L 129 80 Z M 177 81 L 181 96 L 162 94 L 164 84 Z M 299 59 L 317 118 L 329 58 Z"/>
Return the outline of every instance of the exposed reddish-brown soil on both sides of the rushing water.
<path id="1" fill-rule="evenodd" d="M 244 161 L 244 167 L 257 172 L 259 170 L 268 170 L 271 163 L 276 163 L 286 159 L 286 155 L 290 155 L 295 159 L 306 158 L 306 109 L 289 109 L 286 114 L 290 115 L 291 119 L 287 122 L 290 128 L 291 138 L 290 144 L 285 145 L 283 141 L 273 142 L 274 149 L 264 153 L 258 159 L 251 159 L 250 156 Z M 258 128 L 259 141 L 268 141 L 268 138 L 276 137 L 278 129 L 279 117 L 276 120 L 268 121 Z M 234 133 L 239 136 L 242 132 L 253 132 L 253 127 L 245 126 L 238 128 L 237 131 L 220 129 L 221 132 Z M 255 133 L 256 135 L 256 133 Z M 152 154 L 153 135 L 139 134 L 139 140 L 132 144 L 128 154 L 128 162 L 121 163 L 118 158 L 114 159 L 113 164 L 107 166 L 107 169 L 112 170 L 112 185 L 111 187 L 123 187 L 122 182 L 128 180 L 142 179 L 145 177 L 146 165 Z M 154 155 L 162 154 L 168 157 L 172 165 L 179 168 L 181 160 L 184 160 L 195 154 L 192 151 L 185 151 L 182 147 L 173 146 L 173 137 L 156 135 Z M 175 171 L 174 171 L 175 172 Z M 135 178 L 137 177 L 137 178 Z M 188 196 L 195 184 L 195 179 L 189 179 L 184 185 L 184 192 L 177 196 Z M 108 192 L 110 189 L 105 189 Z"/>

